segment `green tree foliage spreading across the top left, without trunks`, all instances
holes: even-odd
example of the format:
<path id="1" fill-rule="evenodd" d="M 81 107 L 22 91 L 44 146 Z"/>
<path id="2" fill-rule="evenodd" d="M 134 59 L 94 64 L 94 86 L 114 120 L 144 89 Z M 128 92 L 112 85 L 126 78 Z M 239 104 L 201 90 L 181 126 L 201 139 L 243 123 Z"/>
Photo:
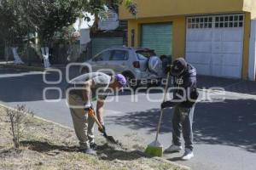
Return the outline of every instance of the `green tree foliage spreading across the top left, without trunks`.
<path id="1" fill-rule="evenodd" d="M 132 0 L 124 1 L 131 11 Z M 97 19 L 106 7 L 118 11 L 120 3 L 123 0 L 1 0 L 0 35 L 14 43 L 27 32 L 36 31 L 41 44 L 47 45 L 56 31 L 84 17 L 84 11 L 95 14 Z"/>

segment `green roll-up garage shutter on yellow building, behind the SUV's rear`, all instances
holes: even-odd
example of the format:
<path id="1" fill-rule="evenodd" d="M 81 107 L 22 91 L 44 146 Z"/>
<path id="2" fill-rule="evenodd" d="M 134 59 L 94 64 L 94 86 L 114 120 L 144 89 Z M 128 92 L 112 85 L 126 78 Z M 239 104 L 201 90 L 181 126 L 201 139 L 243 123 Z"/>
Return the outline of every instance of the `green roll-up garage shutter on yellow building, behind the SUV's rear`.
<path id="1" fill-rule="evenodd" d="M 172 24 L 142 26 L 141 46 L 155 50 L 157 55 L 172 54 Z"/>

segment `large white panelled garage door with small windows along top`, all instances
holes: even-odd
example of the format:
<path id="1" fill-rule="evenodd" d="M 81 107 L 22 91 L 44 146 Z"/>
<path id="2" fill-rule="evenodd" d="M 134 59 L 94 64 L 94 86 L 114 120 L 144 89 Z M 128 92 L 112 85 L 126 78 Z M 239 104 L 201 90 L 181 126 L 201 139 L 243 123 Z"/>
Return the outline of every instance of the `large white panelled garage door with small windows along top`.
<path id="1" fill-rule="evenodd" d="M 186 59 L 201 75 L 241 77 L 243 14 L 189 17 Z"/>

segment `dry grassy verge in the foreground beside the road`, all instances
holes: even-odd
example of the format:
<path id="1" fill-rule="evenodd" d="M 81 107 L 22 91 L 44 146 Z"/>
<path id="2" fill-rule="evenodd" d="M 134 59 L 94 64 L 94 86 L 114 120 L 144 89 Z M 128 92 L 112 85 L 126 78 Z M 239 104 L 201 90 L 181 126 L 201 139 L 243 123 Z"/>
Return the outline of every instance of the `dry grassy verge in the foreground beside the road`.
<path id="1" fill-rule="evenodd" d="M 126 134 L 131 145 L 115 148 L 96 137 L 100 150 L 97 156 L 79 152 L 78 139 L 73 130 L 44 122 L 37 117 L 25 117 L 26 130 L 20 139 L 20 148 L 15 150 L 9 134 L 9 122 L 0 107 L 0 169 L 84 169 L 84 170 L 179 170 L 187 169 L 171 161 L 159 161 L 132 149 L 143 149 L 136 133 Z M 125 137 L 124 137 L 125 138 Z M 133 146 L 133 147 L 132 147 Z"/>

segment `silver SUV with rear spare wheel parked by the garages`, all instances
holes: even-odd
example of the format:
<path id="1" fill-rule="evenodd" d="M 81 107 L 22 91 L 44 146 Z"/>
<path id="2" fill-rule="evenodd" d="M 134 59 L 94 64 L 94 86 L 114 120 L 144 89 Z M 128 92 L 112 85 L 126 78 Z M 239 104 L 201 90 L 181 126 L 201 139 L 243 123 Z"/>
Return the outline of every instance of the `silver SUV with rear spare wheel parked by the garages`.
<path id="1" fill-rule="evenodd" d="M 108 70 L 113 70 L 123 74 L 131 87 L 160 84 L 164 77 L 160 58 L 153 49 L 148 48 L 107 48 L 86 63 L 91 65 L 92 71 L 111 74 Z M 82 65 L 79 71 L 84 74 L 89 69 Z"/>

